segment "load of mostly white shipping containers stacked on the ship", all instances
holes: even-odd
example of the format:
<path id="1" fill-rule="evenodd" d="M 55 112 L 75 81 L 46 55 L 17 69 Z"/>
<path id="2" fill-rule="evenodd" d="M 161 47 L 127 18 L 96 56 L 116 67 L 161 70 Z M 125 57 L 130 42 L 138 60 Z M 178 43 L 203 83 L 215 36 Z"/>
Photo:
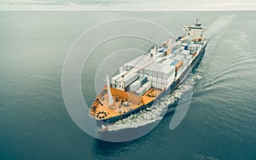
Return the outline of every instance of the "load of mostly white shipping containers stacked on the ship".
<path id="1" fill-rule="evenodd" d="M 138 73 L 128 74 L 128 76 L 124 77 L 124 87 L 131 84 L 130 90 L 138 95 L 144 94 L 151 87 L 157 89 L 169 87 L 175 77 L 176 79 L 180 77 L 183 71 L 190 65 L 198 49 L 201 49 L 201 42 L 192 44 L 189 42 L 190 39 L 188 39 L 187 44 L 183 45 L 179 41 L 173 43 L 172 52 L 171 49 L 168 49 L 168 43 L 164 42 L 163 47 L 157 49 L 158 52 L 154 62 L 141 68 Z M 152 60 L 149 55 L 141 55 L 137 59 L 125 63 L 123 67 L 124 73 L 131 71 L 135 67 L 143 66 L 149 60 Z M 121 80 L 120 75 L 112 78 L 112 83 L 116 86 L 119 85 Z M 138 77 L 140 78 L 137 79 Z"/>

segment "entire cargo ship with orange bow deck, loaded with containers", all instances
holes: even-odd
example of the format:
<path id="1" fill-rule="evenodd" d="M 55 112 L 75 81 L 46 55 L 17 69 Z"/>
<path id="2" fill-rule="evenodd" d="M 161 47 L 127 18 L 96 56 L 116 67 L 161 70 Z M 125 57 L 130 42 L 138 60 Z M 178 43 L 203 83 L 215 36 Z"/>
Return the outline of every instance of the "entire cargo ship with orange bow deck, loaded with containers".
<path id="1" fill-rule="evenodd" d="M 169 37 L 150 53 L 125 63 L 117 75 L 107 75 L 102 92 L 90 106 L 90 117 L 114 123 L 170 94 L 200 62 L 207 47 L 202 37 L 206 30 L 197 19 L 195 25 L 183 26 L 183 36 Z"/>

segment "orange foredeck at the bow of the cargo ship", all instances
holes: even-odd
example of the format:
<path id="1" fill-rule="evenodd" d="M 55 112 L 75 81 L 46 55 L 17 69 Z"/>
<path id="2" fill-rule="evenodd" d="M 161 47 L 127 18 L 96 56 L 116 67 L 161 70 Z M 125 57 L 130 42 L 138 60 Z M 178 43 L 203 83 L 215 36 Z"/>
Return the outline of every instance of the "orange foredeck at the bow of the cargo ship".
<path id="1" fill-rule="evenodd" d="M 147 105 L 152 100 L 155 100 L 161 93 L 161 89 L 149 89 L 143 96 L 138 96 L 125 91 L 118 91 L 111 88 L 113 94 L 113 104 L 108 104 L 108 91 L 106 86 L 102 93 L 97 95 L 96 100 L 90 108 L 90 115 L 96 119 L 103 120 L 109 117 L 116 117 L 126 112 L 135 110 L 140 106 Z M 127 96 L 128 95 L 128 96 Z"/>

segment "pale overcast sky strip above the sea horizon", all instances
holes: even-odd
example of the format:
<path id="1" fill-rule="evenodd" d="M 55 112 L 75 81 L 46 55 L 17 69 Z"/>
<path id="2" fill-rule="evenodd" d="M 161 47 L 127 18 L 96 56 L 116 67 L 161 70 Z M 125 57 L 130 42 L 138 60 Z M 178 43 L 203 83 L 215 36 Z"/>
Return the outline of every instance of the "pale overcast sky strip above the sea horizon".
<path id="1" fill-rule="evenodd" d="M 256 10 L 256 0 L 0 0 L 0 10 Z"/>

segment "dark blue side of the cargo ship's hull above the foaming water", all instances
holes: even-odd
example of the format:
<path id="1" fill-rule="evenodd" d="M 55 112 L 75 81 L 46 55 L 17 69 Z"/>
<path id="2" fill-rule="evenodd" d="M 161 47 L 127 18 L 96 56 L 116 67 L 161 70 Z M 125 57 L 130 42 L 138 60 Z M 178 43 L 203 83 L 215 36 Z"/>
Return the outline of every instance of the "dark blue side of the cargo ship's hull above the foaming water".
<path id="1" fill-rule="evenodd" d="M 109 117 L 108 119 L 102 119 L 98 120 L 99 123 L 104 122 L 104 123 L 115 123 L 119 119 L 123 119 L 125 117 L 129 117 L 131 114 L 137 113 L 139 111 L 142 111 L 143 109 L 147 108 L 148 106 L 152 106 L 154 104 L 154 101 L 160 100 L 162 97 L 164 97 L 166 94 L 170 94 L 174 89 L 176 89 L 183 81 L 186 79 L 188 76 L 189 72 L 193 70 L 196 66 L 199 65 L 201 58 L 205 54 L 205 49 L 207 47 L 207 44 L 201 49 L 201 52 L 195 57 L 195 59 L 191 62 L 190 66 L 186 68 L 185 71 L 183 71 L 182 75 L 174 82 L 172 85 L 166 89 L 162 94 L 160 94 L 155 100 L 152 100 L 149 102 L 147 105 L 140 106 L 139 108 L 129 111 L 125 114 L 116 116 L 116 117 Z"/>

